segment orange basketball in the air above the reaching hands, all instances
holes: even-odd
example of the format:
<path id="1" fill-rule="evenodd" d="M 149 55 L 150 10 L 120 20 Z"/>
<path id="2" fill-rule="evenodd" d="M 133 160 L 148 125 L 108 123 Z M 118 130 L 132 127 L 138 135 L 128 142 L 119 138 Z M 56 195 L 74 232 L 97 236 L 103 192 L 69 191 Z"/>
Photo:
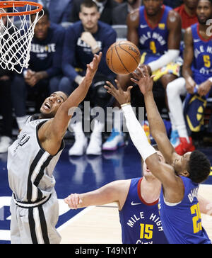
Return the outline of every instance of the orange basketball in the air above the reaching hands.
<path id="1" fill-rule="evenodd" d="M 107 66 L 115 74 L 130 74 L 139 66 L 139 48 L 130 41 L 122 40 L 112 44 L 107 50 Z"/>

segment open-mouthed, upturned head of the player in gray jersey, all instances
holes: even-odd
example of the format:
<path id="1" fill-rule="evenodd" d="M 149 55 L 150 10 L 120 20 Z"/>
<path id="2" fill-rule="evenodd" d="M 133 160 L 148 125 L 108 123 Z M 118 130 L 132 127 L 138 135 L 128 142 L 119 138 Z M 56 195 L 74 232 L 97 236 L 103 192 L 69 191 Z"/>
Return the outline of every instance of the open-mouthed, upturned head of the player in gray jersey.
<path id="1" fill-rule="evenodd" d="M 59 107 L 66 101 L 66 99 L 68 99 L 68 96 L 63 91 L 56 91 L 52 93 L 42 103 L 40 108 L 42 118 L 54 118 Z"/>

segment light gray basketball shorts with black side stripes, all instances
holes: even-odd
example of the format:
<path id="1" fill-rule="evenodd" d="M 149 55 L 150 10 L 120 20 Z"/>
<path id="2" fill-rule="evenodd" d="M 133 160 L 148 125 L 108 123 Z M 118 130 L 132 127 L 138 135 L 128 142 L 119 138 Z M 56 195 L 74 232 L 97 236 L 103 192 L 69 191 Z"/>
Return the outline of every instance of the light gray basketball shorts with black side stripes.
<path id="1" fill-rule="evenodd" d="M 59 244 L 61 236 L 55 226 L 59 218 L 57 194 L 45 203 L 18 203 L 11 198 L 11 244 Z"/>

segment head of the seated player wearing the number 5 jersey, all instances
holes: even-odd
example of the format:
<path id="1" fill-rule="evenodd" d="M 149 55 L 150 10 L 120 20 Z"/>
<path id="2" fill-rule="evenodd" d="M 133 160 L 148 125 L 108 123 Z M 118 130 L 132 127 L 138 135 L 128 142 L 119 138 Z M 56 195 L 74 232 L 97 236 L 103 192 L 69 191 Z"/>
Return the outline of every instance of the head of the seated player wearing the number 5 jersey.
<path id="1" fill-rule="evenodd" d="M 212 0 L 199 0 L 196 8 L 198 21 L 202 25 L 212 18 Z"/>

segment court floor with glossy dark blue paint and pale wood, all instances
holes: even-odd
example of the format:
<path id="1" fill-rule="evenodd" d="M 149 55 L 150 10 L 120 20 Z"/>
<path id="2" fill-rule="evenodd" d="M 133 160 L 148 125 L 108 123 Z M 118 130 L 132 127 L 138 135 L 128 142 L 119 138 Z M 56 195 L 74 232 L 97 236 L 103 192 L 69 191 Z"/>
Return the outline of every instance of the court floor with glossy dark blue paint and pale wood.
<path id="1" fill-rule="evenodd" d="M 115 152 L 102 152 L 101 156 L 78 158 L 69 157 L 69 147 L 64 152 L 54 171 L 55 189 L 59 198 L 59 220 L 57 229 L 62 236 L 62 243 L 121 243 L 121 228 L 116 203 L 107 206 L 69 210 L 64 198 L 71 193 L 93 191 L 114 180 L 131 179 L 142 175 L 141 156 L 131 141 L 129 145 Z M 212 163 L 212 148 L 201 148 Z M 8 186 L 7 154 L 0 155 L 0 244 L 10 243 L 10 199 Z M 212 200 L 211 176 L 205 182 L 202 191 Z M 204 186 L 203 186 L 204 187 Z M 81 212 L 82 211 L 82 212 Z M 204 215 L 203 224 L 212 238 L 211 220 Z"/>

